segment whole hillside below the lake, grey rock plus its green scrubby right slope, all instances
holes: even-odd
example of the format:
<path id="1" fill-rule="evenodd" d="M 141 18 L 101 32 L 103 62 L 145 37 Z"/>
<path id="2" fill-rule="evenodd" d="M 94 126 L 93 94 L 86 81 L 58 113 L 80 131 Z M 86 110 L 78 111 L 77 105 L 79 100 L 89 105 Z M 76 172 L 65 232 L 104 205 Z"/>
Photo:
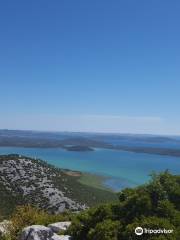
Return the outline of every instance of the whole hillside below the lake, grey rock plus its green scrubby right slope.
<path id="1" fill-rule="evenodd" d="M 114 193 L 78 182 L 81 173 L 57 169 L 42 160 L 20 155 L 0 156 L 0 212 L 11 213 L 15 206 L 33 204 L 51 213 L 66 209 L 79 211 L 88 206 L 115 200 Z"/>

